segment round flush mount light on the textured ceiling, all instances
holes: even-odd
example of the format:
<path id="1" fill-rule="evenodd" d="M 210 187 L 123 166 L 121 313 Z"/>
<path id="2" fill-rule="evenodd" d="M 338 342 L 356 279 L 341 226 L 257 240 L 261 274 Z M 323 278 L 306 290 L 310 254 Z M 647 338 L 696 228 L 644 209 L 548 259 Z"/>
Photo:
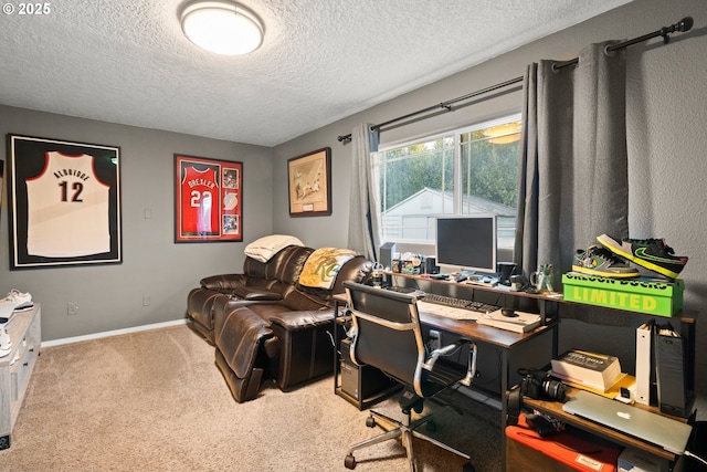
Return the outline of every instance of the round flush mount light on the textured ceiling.
<path id="1" fill-rule="evenodd" d="M 197 1 L 181 13 L 192 43 L 218 54 L 247 54 L 263 43 L 265 28 L 251 10 L 231 1 Z"/>

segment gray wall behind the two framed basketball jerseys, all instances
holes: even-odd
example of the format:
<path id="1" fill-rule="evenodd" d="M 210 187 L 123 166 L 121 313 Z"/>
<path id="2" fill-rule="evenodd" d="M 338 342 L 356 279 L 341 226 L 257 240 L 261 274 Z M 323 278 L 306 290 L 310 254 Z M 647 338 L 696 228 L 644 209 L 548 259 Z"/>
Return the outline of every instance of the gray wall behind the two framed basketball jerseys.
<path id="1" fill-rule="evenodd" d="M 41 302 L 43 340 L 183 318 L 187 294 L 201 277 L 240 272 L 244 244 L 272 232 L 271 148 L 6 106 L 0 106 L 0 133 L 120 147 L 123 264 L 10 271 L 3 198 L 0 293 L 29 291 Z M 7 162 L 6 153 L 2 146 Z M 243 162 L 243 243 L 173 243 L 175 153 Z M 149 306 L 143 306 L 144 296 Z M 78 303 L 77 315 L 67 315 L 70 302 Z"/>

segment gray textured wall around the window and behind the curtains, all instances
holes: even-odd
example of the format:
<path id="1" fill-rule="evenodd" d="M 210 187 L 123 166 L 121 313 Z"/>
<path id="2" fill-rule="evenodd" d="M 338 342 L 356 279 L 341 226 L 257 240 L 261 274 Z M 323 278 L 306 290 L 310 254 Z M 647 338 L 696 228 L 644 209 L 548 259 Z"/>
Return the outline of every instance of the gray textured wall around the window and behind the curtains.
<path id="1" fill-rule="evenodd" d="M 598 18 L 560 31 L 516 51 L 419 88 L 351 117 L 300 136 L 275 148 L 273 229 L 293 233 L 309 244 L 346 245 L 348 231 L 350 146 L 337 141 L 359 123 L 382 123 L 426 106 L 521 76 L 526 64 L 540 59 L 576 57 L 587 44 L 631 39 L 659 30 L 683 17 L 695 19 L 693 31 L 667 46 L 634 45 L 627 54 L 630 157 L 630 228 L 634 238 L 659 237 L 678 254 L 690 256 L 682 276 L 685 307 L 701 312 L 707 300 L 707 12 L 703 0 L 635 0 Z M 493 32 L 489 32 L 493 34 Z M 356 66 L 356 64 L 351 64 Z M 520 109 L 521 93 L 484 101 L 475 106 L 401 127 L 381 135 L 382 144 L 449 129 Z M 308 150 L 333 150 L 334 212 L 329 218 L 287 218 L 286 160 Z M 591 244 L 588 241 L 587 244 Z M 707 322 L 698 316 L 698 409 L 707 395 Z M 624 370 L 633 370 L 633 328 L 563 322 L 560 348 L 584 346 L 620 355 Z M 625 346 L 631 346 L 626 348 Z M 701 413 L 700 416 L 704 416 Z M 707 418 L 707 417 L 705 417 Z"/>

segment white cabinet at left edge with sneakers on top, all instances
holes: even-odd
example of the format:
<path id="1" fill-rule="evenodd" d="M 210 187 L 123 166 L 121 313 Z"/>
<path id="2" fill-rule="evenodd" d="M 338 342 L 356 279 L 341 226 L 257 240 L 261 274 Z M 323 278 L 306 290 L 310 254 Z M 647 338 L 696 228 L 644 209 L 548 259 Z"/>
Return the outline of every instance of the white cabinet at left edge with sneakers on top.
<path id="1" fill-rule="evenodd" d="M 42 328 L 39 303 L 28 312 L 12 315 L 7 327 L 12 349 L 0 358 L 0 450 L 10 447 L 10 434 L 40 355 Z"/>

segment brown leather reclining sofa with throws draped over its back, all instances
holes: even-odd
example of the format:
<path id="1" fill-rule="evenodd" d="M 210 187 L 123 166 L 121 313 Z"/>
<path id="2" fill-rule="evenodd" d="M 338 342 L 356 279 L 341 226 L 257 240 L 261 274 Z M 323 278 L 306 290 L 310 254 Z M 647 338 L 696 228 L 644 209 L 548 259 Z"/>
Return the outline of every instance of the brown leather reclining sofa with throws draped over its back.
<path id="1" fill-rule="evenodd" d="M 333 370 L 334 295 L 346 280 L 366 283 L 372 263 L 344 263 L 329 290 L 299 283 L 315 250 L 289 245 L 243 273 L 201 280 L 188 297 L 191 328 L 215 346 L 215 364 L 236 401 L 255 398 L 263 379 L 287 390 Z"/>

